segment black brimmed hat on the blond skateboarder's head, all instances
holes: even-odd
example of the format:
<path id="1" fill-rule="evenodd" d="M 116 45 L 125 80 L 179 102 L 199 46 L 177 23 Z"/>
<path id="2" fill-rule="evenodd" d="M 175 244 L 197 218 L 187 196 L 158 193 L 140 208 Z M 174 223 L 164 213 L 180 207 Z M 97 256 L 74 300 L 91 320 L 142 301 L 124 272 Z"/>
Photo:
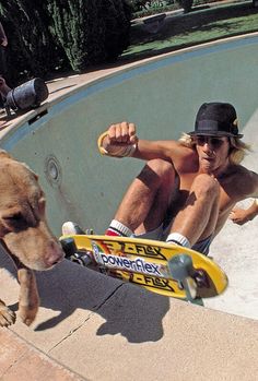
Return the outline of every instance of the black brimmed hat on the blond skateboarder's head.
<path id="1" fill-rule="evenodd" d="M 236 110 L 231 104 L 209 103 L 199 108 L 196 117 L 195 131 L 189 135 L 234 136 L 238 133 Z"/>

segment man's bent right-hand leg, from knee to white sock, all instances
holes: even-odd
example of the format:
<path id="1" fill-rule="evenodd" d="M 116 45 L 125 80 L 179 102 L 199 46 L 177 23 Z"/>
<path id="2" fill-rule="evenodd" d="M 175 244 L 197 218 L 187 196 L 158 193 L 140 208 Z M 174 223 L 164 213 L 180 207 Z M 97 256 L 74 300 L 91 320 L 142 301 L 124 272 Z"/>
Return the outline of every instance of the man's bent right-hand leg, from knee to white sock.
<path id="1" fill-rule="evenodd" d="M 199 175 L 191 186 L 185 207 L 172 225 L 167 241 L 192 247 L 212 235 L 219 216 L 219 198 L 218 180 L 209 175 Z"/>

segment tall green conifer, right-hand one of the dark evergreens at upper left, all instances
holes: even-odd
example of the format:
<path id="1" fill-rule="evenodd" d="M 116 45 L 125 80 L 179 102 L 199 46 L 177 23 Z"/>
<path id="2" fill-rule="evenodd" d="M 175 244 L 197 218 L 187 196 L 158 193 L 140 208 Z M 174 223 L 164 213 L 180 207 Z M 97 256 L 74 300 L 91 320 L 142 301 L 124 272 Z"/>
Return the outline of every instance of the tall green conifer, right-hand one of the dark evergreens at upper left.
<path id="1" fill-rule="evenodd" d="M 48 0 L 52 34 L 73 70 L 116 59 L 129 44 L 125 0 Z"/>

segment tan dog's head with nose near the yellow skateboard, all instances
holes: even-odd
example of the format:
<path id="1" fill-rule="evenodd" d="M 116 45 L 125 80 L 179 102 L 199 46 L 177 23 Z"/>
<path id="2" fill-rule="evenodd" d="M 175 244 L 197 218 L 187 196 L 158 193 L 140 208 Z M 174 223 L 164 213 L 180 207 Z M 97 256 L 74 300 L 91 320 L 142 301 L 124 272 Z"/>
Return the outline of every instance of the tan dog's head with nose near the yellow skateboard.
<path id="1" fill-rule="evenodd" d="M 25 266 L 47 270 L 63 259 L 46 222 L 46 200 L 37 176 L 0 152 L 0 239 Z"/>

